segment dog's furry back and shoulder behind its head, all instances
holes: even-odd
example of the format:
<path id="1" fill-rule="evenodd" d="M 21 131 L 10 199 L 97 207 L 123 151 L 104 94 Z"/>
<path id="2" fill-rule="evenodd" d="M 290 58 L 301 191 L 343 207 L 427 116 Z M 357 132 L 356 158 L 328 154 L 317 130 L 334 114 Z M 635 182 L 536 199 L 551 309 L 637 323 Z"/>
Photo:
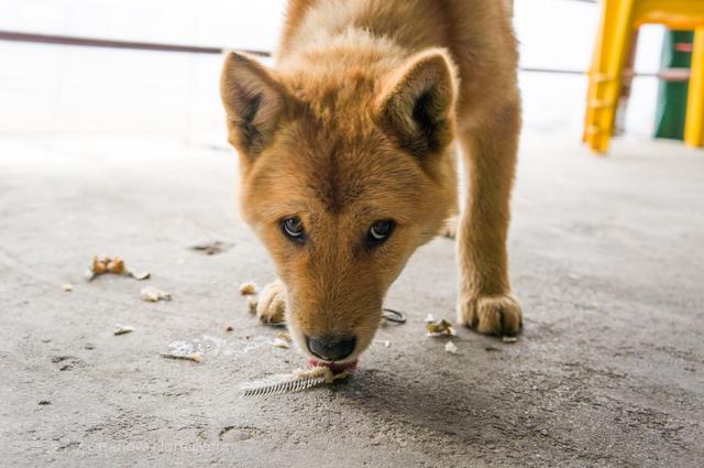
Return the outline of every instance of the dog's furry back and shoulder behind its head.
<path id="1" fill-rule="evenodd" d="M 387 50 L 393 44 L 403 57 L 443 47 L 461 79 L 460 123 L 471 123 L 482 118 L 484 107 L 517 99 L 512 4 L 512 0 L 292 0 L 277 62 L 285 67 L 299 53 L 336 42 L 340 54 L 326 48 L 326 59 L 332 63 L 353 61 L 352 47 Z"/>

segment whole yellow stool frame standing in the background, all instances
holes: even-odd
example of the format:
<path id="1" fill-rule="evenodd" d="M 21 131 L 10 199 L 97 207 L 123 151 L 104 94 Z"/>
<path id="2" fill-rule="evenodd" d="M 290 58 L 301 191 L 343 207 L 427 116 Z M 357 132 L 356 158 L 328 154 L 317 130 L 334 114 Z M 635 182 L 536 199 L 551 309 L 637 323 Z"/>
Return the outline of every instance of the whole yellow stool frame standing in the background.
<path id="1" fill-rule="evenodd" d="M 690 146 L 704 146 L 704 0 L 603 0 L 583 134 L 584 142 L 596 153 L 606 153 L 614 134 L 634 33 L 651 23 L 694 30 L 684 141 Z"/>

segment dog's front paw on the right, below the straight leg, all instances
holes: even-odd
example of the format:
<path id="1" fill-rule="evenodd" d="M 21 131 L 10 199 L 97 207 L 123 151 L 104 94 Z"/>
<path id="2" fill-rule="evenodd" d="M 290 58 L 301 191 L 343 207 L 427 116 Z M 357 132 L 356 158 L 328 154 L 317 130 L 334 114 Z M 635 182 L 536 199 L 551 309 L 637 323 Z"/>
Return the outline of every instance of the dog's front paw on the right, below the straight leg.
<path id="1" fill-rule="evenodd" d="M 484 335 L 514 336 L 524 325 L 518 301 L 509 294 L 460 297 L 458 323 Z"/>

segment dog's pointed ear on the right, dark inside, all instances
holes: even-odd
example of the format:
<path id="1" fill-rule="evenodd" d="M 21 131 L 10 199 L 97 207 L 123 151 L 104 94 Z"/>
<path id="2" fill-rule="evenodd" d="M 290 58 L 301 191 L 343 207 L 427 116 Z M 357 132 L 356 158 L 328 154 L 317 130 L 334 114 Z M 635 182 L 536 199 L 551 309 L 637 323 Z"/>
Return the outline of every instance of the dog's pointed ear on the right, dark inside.
<path id="1" fill-rule="evenodd" d="M 442 50 L 421 52 L 383 84 L 377 118 L 398 144 L 417 156 L 453 139 L 455 69 Z"/>

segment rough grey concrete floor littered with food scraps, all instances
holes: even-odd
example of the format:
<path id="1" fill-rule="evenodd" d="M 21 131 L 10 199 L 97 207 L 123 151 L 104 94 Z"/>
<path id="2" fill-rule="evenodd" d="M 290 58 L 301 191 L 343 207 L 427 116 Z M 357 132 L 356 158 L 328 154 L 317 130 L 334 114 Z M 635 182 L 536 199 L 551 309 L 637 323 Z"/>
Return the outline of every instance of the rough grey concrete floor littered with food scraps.
<path id="1" fill-rule="evenodd" d="M 238 284 L 272 280 L 233 204 L 234 157 L 157 141 L 0 142 L 0 453 L 4 466 L 702 466 L 704 153 L 525 139 L 510 236 L 518 342 L 460 330 L 454 247 L 420 249 L 356 377 L 243 399 L 300 367 Z M 194 243 L 233 242 L 207 257 Z M 86 283 L 96 253 L 147 269 Z M 63 283 L 74 291 L 62 291 Z M 113 336 L 116 324 L 135 331 Z M 231 325 L 234 331 L 227 333 Z M 205 361 L 158 356 L 184 340 Z M 42 403 L 44 404 L 42 404 Z"/>

